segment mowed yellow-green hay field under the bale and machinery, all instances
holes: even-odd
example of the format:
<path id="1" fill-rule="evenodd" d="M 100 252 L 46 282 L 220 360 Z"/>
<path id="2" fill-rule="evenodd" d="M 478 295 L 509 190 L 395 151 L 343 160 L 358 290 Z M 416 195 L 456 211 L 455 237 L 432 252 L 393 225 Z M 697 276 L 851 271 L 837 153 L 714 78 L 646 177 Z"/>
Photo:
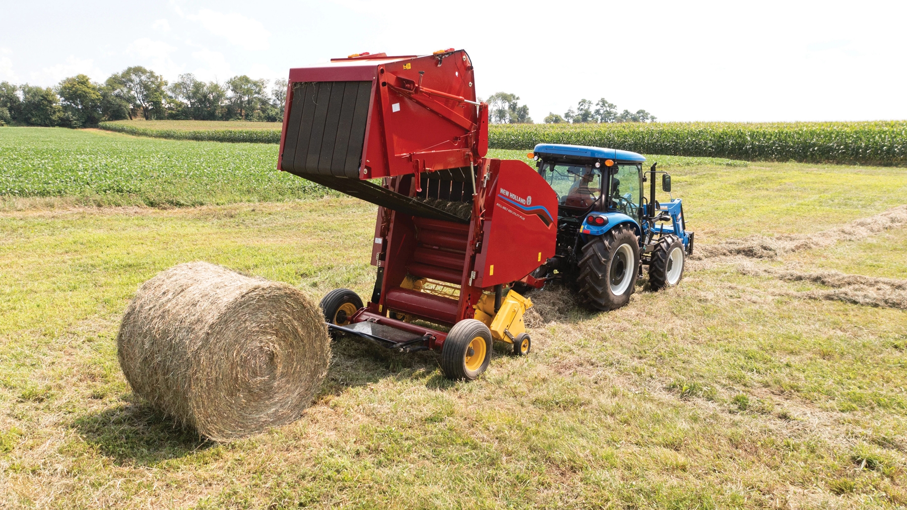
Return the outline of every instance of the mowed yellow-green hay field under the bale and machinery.
<path id="1" fill-rule="evenodd" d="M 0 129 L 0 143 L 12 143 L 4 148 L 24 147 L 7 138 L 19 129 Z M 65 161 L 58 130 L 35 131 Z M 158 163 L 142 168 L 173 182 L 168 154 L 236 150 L 72 133 L 86 137 L 73 151 L 154 143 L 146 157 Z M 10 153 L 22 152 L 0 152 L 4 172 L 19 168 Z M 655 159 L 669 163 L 697 231 L 678 288 L 649 292 L 643 279 L 610 313 L 576 308 L 563 289 L 537 292 L 533 354 L 497 351 L 471 383 L 444 379 L 434 353 L 339 338 L 303 417 L 229 444 L 174 427 L 132 395 L 113 343 L 128 299 L 190 260 L 315 299 L 336 287 L 367 296 L 375 207 L 318 191 L 171 209 L 96 207 L 106 202 L 87 192 L 7 197 L 0 505 L 907 505 L 907 172 Z M 249 168 L 271 179 L 267 160 Z M 873 217 L 887 228 L 859 222 Z M 722 251 L 735 246 L 761 248 Z"/>

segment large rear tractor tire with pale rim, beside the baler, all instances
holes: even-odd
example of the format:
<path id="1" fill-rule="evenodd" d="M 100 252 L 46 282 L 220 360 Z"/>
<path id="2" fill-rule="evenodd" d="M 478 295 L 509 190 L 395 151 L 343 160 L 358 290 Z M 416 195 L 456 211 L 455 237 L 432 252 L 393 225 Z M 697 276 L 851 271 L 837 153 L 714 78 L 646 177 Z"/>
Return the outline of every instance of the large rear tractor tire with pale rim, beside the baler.
<path id="1" fill-rule="evenodd" d="M 590 309 L 619 309 L 629 302 L 639 275 L 639 238 L 629 225 L 618 226 L 582 247 L 577 283 Z"/>

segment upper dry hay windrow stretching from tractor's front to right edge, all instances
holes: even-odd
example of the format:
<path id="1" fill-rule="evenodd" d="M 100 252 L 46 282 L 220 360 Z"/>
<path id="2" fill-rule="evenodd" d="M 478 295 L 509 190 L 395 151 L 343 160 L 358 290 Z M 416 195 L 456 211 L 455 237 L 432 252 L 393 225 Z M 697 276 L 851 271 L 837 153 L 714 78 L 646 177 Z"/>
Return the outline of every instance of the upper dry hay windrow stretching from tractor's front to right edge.
<path id="1" fill-rule="evenodd" d="M 883 230 L 907 225 L 907 205 L 900 205 L 881 214 L 814 234 L 785 234 L 779 236 L 751 235 L 727 240 L 720 244 L 697 246 L 690 257 L 703 260 L 717 257 L 746 257 L 777 259 L 787 253 L 830 246 L 842 240 L 861 240 Z"/>

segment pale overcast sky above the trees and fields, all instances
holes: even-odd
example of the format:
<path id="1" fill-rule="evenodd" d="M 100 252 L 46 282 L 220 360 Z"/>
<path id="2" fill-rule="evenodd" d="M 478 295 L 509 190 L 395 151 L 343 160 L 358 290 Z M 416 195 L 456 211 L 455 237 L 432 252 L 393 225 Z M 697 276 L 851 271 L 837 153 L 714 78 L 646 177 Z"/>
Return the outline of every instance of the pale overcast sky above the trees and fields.
<path id="1" fill-rule="evenodd" d="M 0 0 L 0 81 L 141 64 L 286 77 L 360 52 L 469 52 L 532 118 L 600 97 L 659 121 L 907 119 L 907 2 Z"/>

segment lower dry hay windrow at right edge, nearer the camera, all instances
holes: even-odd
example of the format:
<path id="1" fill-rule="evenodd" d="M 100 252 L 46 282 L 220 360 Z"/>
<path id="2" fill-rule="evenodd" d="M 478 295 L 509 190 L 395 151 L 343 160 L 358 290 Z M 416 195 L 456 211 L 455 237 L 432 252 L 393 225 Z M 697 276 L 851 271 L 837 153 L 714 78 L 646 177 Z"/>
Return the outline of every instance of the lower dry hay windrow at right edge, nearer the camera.
<path id="1" fill-rule="evenodd" d="M 737 270 L 754 276 L 772 276 L 787 281 L 809 281 L 833 290 L 807 290 L 792 295 L 809 299 L 844 301 L 857 305 L 907 309 L 907 280 L 876 278 L 839 271 L 801 272 L 775 268 L 756 268 L 741 264 Z"/>

